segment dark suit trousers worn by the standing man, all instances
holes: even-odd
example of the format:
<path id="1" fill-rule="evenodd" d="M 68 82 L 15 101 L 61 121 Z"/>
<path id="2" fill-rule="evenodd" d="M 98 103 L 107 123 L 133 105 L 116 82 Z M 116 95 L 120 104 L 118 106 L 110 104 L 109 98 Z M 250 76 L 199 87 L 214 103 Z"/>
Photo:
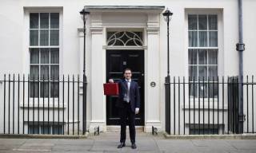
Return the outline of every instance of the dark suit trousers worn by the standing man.
<path id="1" fill-rule="evenodd" d="M 127 117 L 130 131 L 130 142 L 135 143 L 135 112 L 131 110 L 130 103 L 127 103 L 126 101 L 122 102 L 124 103 L 124 107 L 119 109 L 121 125 L 120 143 L 126 142 Z"/>

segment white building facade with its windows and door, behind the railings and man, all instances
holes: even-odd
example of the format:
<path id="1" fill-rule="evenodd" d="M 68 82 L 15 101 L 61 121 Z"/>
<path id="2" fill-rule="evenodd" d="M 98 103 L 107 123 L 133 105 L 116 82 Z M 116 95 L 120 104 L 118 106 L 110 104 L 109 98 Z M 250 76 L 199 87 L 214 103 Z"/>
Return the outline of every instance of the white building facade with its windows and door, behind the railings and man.
<path id="1" fill-rule="evenodd" d="M 255 6 L 256 2 L 252 0 L 243 1 L 243 41 L 246 44 L 246 50 L 243 52 L 244 76 L 256 73 L 254 68 L 256 64 L 254 60 L 256 56 L 254 52 L 256 49 L 254 42 Z M 89 18 L 86 19 L 86 59 L 83 58 L 83 21 L 79 14 L 84 7 L 90 11 Z M 85 60 L 86 129 L 94 131 L 94 128 L 98 126 L 100 131 L 118 129 L 118 110 L 114 108 L 115 99 L 103 95 L 102 84 L 106 83 L 109 78 L 115 80 L 122 78 L 122 70 L 130 67 L 134 72 L 134 80 L 137 80 L 140 85 L 142 95 L 142 108 L 137 116 L 137 126 L 146 132 L 150 132 L 152 126 L 158 128 L 158 131 L 165 131 L 167 26 L 162 12 L 166 8 L 174 13 L 170 20 L 171 77 L 186 77 L 187 80 L 188 77 L 238 75 L 239 60 L 238 51 L 235 48 L 238 43 L 238 2 L 234 0 L 160 0 L 157 2 L 150 0 L 128 2 L 1 0 L 1 110 L 6 107 L 5 113 L 12 114 L 12 102 L 20 104 L 20 107 L 15 105 L 14 120 L 10 117 L 9 121 L 20 122 L 22 125 L 22 111 L 27 110 L 28 105 L 26 102 L 26 106 L 22 106 L 22 93 L 20 101 L 18 101 L 17 92 L 14 94 L 14 99 L 12 95 L 10 98 L 8 95 L 5 96 L 8 90 L 4 92 L 4 85 L 8 86 L 8 84 L 3 81 L 4 74 L 6 78 L 11 74 L 10 80 L 13 79 L 13 74 L 17 75 L 15 76 L 17 79 L 18 73 L 21 78 L 22 74 L 25 74 L 26 78 L 28 74 L 33 74 L 36 78 L 41 76 L 39 80 L 42 80 L 43 75 L 50 75 L 50 78 L 44 78 L 48 80 L 58 75 L 61 78 L 65 75 L 67 78 L 68 74 L 70 74 L 71 81 L 72 75 L 75 76 L 75 80 L 78 79 L 78 75 L 82 80 Z M 18 88 L 18 86 L 15 87 Z M 44 88 L 42 84 L 34 88 L 39 90 L 38 94 L 40 93 L 41 97 L 42 88 Z M 46 91 L 47 94 L 54 95 L 51 92 L 54 91 L 54 84 L 50 88 Z M 72 98 L 70 97 L 70 105 L 80 110 L 75 113 L 82 116 L 82 84 L 78 84 L 75 88 L 78 88 L 76 91 L 78 96 L 75 96 L 74 104 L 71 104 Z M 25 92 L 25 95 L 27 94 Z M 38 97 L 37 94 L 34 96 Z M 6 105 L 4 106 L 5 98 Z M 10 111 L 8 111 L 9 99 L 11 101 Z M 41 111 L 38 111 L 41 116 L 38 120 L 42 122 L 44 115 L 42 115 L 41 98 L 35 101 L 35 105 L 38 103 Z M 64 112 L 67 102 L 63 103 Z M 181 105 L 181 107 L 185 110 L 187 105 Z M 54 108 L 54 104 L 47 106 L 50 110 L 57 108 L 57 106 Z M 224 108 L 226 107 L 225 104 Z M 21 115 L 17 119 L 18 109 Z M 1 111 L 1 116 L 4 116 L 3 114 L 4 112 Z M 32 115 L 27 116 L 25 112 L 24 116 L 28 119 Z M 52 118 L 53 115 L 48 114 L 48 116 Z M 57 116 L 55 114 L 55 117 Z M 6 129 L 10 128 L 12 132 L 13 124 L 8 126 L 7 114 L 5 117 L 6 120 L 2 117 L 0 122 L 1 124 L 5 122 Z M 64 125 L 62 128 L 66 129 L 67 123 L 71 126 L 72 122 L 75 122 L 74 131 L 77 132 L 78 127 L 82 129 L 82 123 L 78 121 L 77 116 L 70 115 L 70 119 L 67 119 L 65 112 L 61 120 Z M 25 121 L 28 122 L 28 120 Z M 254 122 L 256 123 L 256 120 Z M 186 123 L 182 122 L 183 124 Z M 70 127 L 70 129 L 73 128 Z M 20 129 L 22 131 L 22 126 Z M 186 128 L 187 130 L 190 129 Z M 0 127 L 0 131 L 1 133 L 4 131 L 3 127 Z"/>

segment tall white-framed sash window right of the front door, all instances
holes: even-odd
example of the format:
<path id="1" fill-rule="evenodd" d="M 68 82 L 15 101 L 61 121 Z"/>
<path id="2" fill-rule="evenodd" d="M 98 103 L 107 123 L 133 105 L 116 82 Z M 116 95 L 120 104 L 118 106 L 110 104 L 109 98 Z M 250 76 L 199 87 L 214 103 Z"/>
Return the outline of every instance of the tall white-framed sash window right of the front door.
<path id="1" fill-rule="evenodd" d="M 218 15 L 188 14 L 190 97 L 216 97 Z"/>

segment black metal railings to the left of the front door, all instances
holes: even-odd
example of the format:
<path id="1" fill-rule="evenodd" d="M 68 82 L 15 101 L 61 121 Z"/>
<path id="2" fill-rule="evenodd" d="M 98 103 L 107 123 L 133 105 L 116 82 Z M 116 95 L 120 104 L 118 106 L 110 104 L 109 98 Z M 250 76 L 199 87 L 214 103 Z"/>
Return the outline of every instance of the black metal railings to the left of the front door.
<path id="1" fill-rule="evenodd" d="M 84 135 L 87 83 L 80 78 L 4 75 L 0 133 Z"/>

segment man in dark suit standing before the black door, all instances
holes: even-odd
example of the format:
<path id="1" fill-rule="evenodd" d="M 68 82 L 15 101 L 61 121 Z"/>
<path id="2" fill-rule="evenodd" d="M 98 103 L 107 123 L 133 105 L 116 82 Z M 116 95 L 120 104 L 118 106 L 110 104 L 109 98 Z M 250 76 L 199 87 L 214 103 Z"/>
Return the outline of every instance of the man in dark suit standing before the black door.
<path id="1" fill-rule="evenodd" d="M 118 148 L 126 146 L 126 118 L 128 117 L 131 147 L 135 149 L 135 114 L 138 114 L 140 108 L 139 89 L 138 83 L 131 80 L 131 69 L 126 68 L 123 75 L 124 78 L 118 81 L 119 96 L 116 103 L 116 107 L 119 108 L 121 122 L 120 144 Z M 113 79 L 109 81 L 114 82 Z"/>

